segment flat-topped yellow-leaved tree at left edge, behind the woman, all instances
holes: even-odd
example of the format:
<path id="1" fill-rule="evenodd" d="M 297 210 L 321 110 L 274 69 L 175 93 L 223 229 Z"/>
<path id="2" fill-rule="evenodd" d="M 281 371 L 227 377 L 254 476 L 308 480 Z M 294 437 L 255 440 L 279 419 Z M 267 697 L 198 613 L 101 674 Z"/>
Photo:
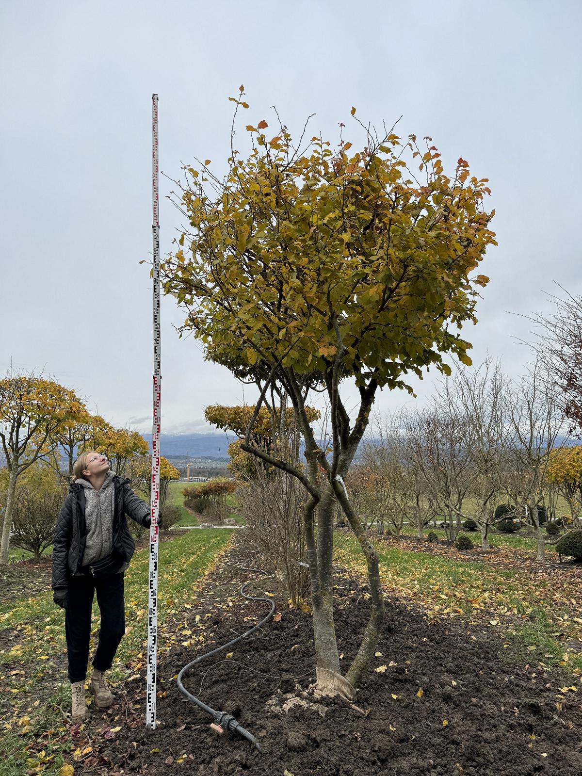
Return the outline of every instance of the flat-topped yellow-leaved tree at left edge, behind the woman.
<path id="1" fill-rule="evenodd" d="M 56 436 L 83 417 L 74 391 L 34 374 L 0 380 L 0 440 L 9 471 L 0 565 L 8 563 L 12 511 L 19 476 L 57 445 Z"/>

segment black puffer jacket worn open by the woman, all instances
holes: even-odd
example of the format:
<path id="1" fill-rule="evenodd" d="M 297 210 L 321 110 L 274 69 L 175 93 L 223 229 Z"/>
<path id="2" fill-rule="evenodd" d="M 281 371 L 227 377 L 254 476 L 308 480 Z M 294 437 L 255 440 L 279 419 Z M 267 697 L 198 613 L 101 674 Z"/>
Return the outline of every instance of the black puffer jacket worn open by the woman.
<path id="1" fill-rule="evenodd" d="M 135 542 L 127 527 L 126 514 L 140 525 L 150 525 L 150 507 L 130 488 L 131 480 L 114 476 L 113 549 L 128 564 L 135 551 Z M 54 528 L 53 589 L 67 587 L 74 574 L 80 573 L 85 553 L 85 488 L 72 483 Z"/>

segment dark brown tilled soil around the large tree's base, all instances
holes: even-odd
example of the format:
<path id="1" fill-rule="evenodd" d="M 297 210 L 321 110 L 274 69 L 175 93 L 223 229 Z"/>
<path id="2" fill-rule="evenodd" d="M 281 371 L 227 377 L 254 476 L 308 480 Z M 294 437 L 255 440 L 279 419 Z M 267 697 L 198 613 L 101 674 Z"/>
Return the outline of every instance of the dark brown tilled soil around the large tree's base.
<path id="1" fill-rule="evenodd" d="M 240 549 L 227 553 L 206 584 L 206 597 L 201 591 L 195 608 L 187 611 L 192 630 L 196 614 L 210 614 L 204 651 L 248 629 L 265 612 L 265 604 L 244 603 L 237 596 L 241 581 L 258 579 L 234 565 L 241 559 Z M 265 581 L 256 587 L 275 590 Z M 365 587 L 341 575 L 336 594 L 336 629 L 347 668 L 369 600 Z M 204 661 L 184 681 L 213 708 L 234 714 L 258 737 L 263 753 L 238 736 L 215 733 L 210 717 L 182 695 L 171 677 L 199 651 L 181 647 L 160 665 L 163 697 L 157 700 L 156 729 L 144 724 L 144 677 L 114 688 L 120 704 L 104 714 L 94 712 L 89 723 L 93 754 L 86 767 L 109 763 L 110 776 L 163 776 L 184 766 L 196 776 L 283 776 L 285 771 L 294 776 L 578 776 L 582 771 L 577 700 L 582 688 L 562 694 L 564 678 L 556 672 L 508 667 L 499 657 L 501 641 L 489 632 L 468 632 L 458 620 L 428 625 L 419 611 L 390 602 L 378 645 L 382 654 L 374 659 L 374 667 L 386 670 L 371 670 L 362 682 L 355 701 L 362 714 L 341 700 L 303 695 L 314 679 L 311 618 L 289 611 L 279 594 L 275 600 L 279 622 L 232 648 L 229 658 L 222 653 Z M 570 677 L 566 684 L 574 682 Z M 307 705 L 275 713 L 290 698 Z M 107 733 L 119 725 L 119 732 Z"/>

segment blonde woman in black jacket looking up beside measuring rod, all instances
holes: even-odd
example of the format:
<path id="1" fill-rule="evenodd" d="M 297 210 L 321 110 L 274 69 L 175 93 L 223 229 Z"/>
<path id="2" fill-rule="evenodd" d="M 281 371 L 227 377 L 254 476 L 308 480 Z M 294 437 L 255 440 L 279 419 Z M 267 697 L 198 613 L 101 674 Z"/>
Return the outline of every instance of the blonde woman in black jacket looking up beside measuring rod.
<path id="1" fill-rule="evenodd" d="M 90 716 L 85 677 L 95 592 L 101 624 L 89 690 L 97 708 L 113 703 L 105 671 L 125 633 L 123 578 L 135 550 L 126 514 L 140 525 L 151 525 L 149 504 L 133 493 L 129 483 L 110 471 L 106 456 L 94 450 L 81 453 L 54 529 L 53 600 L 65 610 L 73 722 Z"/>

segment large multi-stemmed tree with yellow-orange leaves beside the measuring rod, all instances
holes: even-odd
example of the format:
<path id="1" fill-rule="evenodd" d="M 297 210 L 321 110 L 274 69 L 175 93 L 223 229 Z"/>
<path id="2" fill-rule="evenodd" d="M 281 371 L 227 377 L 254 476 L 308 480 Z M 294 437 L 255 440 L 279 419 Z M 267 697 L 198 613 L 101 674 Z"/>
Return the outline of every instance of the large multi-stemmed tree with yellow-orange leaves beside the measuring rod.
<path id="1" fill-rule="evenodd" d="M 242 92 L 234 102 L 237 111 L 246 106 Z M 345 477 L 377 390 L 407 388 L 407 373 L 421 376 L 425 366 L 446 371 L 448 352 L 470 363 L 469 343 L 453 327 L 476 320 L 476 286 L 488 279 L 472 273 L 494 243 L 493 213 L 483 210 L 486 179 L 469 177 L 463 159 L 452 177 L 445 175 L 430 138 L 420 151 L 414 135 L 404 142 L 393 130 L 381 138 L 367 132 L 363 150 L 351 153 L 343 138 L 338 151 L 321 137 L 294 145 L 282 124 L 268 140 L 267 126 L 247 126 L 246 159 L 231 142 L 223 180 L 209 163 L 202 174 L 185 168 L 176 204 L 191 228 L 162 265 L 164 289 L 188 310 L 180 334 L 192 331 L 208 359 L 258 386 L 244 451 L 295 476 L 307 491 L 317 687 L 353 696 L 376 649 L 384 604 L 378 557 Z M 353 422 L 339 390 L 347 380 L 359 391 Z M 289 396 L 305 442 L 304 468 L 252 440 L 256 417 L 270 406 L 269 390 Z M 329 451 L 317 445 L 307 418 L 312 390 L 329 400 Z M 335 499 L 365 556 L 371 601 L 346 677 L 334 631 Z"/>

